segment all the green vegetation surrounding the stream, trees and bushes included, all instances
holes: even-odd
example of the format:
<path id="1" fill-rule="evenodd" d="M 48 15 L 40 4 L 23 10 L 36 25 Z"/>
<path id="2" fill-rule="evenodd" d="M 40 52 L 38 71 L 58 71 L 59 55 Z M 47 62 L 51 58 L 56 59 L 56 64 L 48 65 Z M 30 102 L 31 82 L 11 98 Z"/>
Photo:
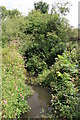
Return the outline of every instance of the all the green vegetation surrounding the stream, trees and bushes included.
<path id="1" fill-rule="evenodd" d="M 28 83 L 50 87 L 53 118 L 80 118 L 79 46 L 77 30 L 65 18 L 67 5 L 57 5 L 58 11 L 52 7 L 49 14 L 47 3 L 35 3 L 28 16 L 2 6 L 4 118 L 20 117 L 30 109 L 24 65 Z M 25 64 L 21 56 L 26 57 Z"/>

